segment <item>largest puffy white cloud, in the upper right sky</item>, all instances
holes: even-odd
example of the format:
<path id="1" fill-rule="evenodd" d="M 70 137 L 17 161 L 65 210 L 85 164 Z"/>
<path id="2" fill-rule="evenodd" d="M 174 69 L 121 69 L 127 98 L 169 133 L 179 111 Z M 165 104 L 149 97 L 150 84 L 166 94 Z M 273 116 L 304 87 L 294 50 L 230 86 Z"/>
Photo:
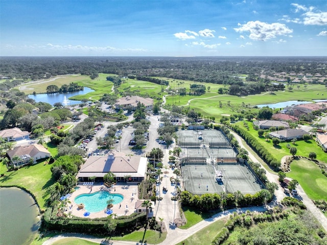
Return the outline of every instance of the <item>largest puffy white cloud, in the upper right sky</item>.
<path id="1" fill-rule="evenodd" d="M 293 30 L 281 23 L 266 23 L 259 20 L 249 21 L 246 24 L 238 24 L 239 28 L 234 28 L 236 32 L 249 32 L 250 39 L 267 41 L 277 36 L 285 36 Z"/>

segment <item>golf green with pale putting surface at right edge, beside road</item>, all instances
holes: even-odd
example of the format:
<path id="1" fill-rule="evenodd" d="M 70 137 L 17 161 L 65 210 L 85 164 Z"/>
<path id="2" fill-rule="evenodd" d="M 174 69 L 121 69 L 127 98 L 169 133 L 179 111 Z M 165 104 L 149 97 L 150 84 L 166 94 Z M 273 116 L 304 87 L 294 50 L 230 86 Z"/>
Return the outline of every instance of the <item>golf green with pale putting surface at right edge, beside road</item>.
<path id="1" fill-rule="evenodd" d="M 286 175 L 297 180 L 310 199 L 327 201 L 327 177 L 321 174 L 319 166 L 313 161 L 295 159 Z"/>

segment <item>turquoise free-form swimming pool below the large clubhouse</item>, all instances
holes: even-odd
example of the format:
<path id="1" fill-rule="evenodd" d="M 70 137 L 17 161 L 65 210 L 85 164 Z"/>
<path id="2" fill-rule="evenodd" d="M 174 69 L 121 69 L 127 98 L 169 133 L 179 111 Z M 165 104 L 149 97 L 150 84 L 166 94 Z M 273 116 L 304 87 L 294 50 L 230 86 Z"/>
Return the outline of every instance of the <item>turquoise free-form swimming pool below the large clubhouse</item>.
<path id="1" fill-rule="evenodd" d="M 107 207 L 107 201 L 110 199 L 113 199 L 112 204 L 118 204 L 124 200 L 124 196 L 122 194 L 111 194 L 108 191 L 97 191 L 78 195 L 74 202 L 76 204 L 83 203 L 86 211 L 96 213 L 104 210 Z"/>

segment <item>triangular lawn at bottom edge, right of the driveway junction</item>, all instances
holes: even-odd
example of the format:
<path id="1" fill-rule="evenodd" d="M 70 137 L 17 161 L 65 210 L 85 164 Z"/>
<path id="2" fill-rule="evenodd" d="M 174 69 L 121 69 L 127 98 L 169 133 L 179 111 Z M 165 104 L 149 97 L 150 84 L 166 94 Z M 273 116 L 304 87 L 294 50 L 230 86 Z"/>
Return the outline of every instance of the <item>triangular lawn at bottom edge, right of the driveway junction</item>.
<path id="1" fill-rule="evenodd" d="M 223 218 L 215 221 L 214 223 L 208 225 L 207 227 L 199 230 L 194 235 L 186 238 L 182 242 L 177 243 L 177 245 L 207 245 L 215 238 L 215 236 L 224 227 L 227 218 Z"/>

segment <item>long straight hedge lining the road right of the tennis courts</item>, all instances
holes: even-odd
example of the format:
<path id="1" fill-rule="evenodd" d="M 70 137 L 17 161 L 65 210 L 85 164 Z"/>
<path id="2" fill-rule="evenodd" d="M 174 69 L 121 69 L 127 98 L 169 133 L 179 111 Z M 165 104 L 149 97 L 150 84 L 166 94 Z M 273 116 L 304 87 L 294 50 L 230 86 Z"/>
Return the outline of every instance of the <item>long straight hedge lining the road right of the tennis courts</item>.
<path id="1" fill-rule="evenodd" d="M 241 129 L 238 125 L 230 125 L 236 133 L 238 133 L 250 146 L 251 148 L 274 170 L 278 170 L 281 166 L 281 162 L 278 162 L 276 158 L 274 158 L 270 152 L 258 141 L 255 137 L 253 137 L 249 132 L 244 129 Z"/>

